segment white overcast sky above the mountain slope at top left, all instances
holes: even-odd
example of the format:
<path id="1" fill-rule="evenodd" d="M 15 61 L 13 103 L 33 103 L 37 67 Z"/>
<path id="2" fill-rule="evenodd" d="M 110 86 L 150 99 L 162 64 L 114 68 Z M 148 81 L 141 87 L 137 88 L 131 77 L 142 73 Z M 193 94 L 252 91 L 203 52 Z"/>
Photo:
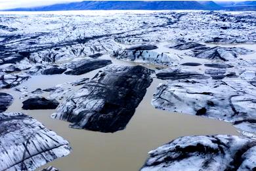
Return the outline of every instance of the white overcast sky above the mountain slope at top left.
<path id="1" fill-rule="evenodd" d="M 20 7 L 39 7 L 43 5 L 53 5 L 56 3 L 69 3 L 74 1 L 83 1 L 83 0 L 0 0 L 0 10 L 14 9 L 14 8 L 20 8 Z"/>

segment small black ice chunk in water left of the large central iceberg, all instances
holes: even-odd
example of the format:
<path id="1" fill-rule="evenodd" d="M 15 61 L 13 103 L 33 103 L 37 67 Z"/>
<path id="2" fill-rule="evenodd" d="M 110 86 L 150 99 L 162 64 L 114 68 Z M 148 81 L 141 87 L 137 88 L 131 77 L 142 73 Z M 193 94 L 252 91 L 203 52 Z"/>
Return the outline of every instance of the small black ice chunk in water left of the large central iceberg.
<path id="1" fill-rule="evenodd" d="M 58 106 L 57 100 L 48 100 L 46 98 L 30 98 L 22 102 L 22 109 L 35 110 L 35 109 L 56 109 Z"/>

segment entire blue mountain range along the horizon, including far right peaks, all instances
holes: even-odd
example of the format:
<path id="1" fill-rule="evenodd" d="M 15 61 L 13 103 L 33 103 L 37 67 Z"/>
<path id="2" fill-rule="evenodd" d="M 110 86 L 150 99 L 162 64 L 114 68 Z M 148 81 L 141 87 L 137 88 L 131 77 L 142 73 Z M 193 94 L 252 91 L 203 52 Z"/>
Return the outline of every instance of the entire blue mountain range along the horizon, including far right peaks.
<path id="1" fill-rule="evenodd" d="M 81 1 L 12 11 L 53 10 L 256 10 L 256 1 Z"/>

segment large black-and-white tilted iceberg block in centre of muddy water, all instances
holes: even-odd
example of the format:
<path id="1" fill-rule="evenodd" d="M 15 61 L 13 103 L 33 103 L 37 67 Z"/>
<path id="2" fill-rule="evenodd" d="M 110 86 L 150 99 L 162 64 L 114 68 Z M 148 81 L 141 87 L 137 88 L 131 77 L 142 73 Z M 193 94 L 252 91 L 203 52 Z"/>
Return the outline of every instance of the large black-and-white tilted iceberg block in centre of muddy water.
<path id="1" fill-rule="evenodd" d="M 150 86 L 152 71 L 142 66 L 109 66 L 85 83 L 52 115 L 72 128 L 123 130 Z"/>

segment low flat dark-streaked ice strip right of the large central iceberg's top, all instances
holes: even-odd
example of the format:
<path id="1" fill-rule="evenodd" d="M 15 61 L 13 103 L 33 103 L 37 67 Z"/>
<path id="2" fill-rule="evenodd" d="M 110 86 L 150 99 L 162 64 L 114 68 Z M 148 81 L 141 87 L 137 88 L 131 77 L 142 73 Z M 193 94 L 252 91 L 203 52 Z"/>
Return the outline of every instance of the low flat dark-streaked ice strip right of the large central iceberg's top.
<path id="1" fill-rule="evenodd" d="M 160 70 L 156 73 L 156 77 L 158 79 L 171 79 L 171 80 L 178 80 L 178 79 L 209 79 L 208 76 L 194 72 L 188 71 L 186 69 L 172 69 L 167 68 Z"/>

